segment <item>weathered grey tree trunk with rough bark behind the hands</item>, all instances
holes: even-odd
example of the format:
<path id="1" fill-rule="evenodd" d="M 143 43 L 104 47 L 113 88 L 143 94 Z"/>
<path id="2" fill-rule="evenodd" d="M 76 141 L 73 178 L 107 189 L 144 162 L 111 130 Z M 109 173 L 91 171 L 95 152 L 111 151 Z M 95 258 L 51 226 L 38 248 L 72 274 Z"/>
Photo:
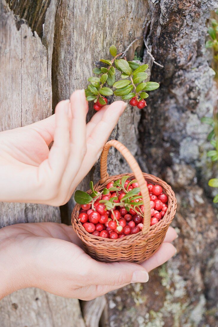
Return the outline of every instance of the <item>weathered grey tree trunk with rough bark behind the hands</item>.
<path id="1" fill-rule="evenodd" d="M 217 101 L 205 38 L 210 10 L 218 7 L 218 1 L 41 0 L 34 2 L 34 10 L 32 2 L 8 2 L 38 34 L 48 9 L 41 42 L 0 0 L 0 60 L 5 68 L 0 70 L 1 129 L 50 115 L 51 71 L 54 108 L 87 85 L 94 61 L 106 58 L 111 44 L 122 51 L 141 36 L 145 22 L 147 44 L 164 68 L 152 65 L 146 50 L 143 62 L 150 64 L 151 80 L 158 81 L 160 88 L 151 93 L 146 110 L 126 109 L 111 138 L 130 149 L 143 171 L 165 179 L 176 191 L 173 225 L 179 232 L 178 254 L 151 272 L 146 285 L 131 284 L 109 293 L 100 326 L 218 326 L 218 223 L 207 186 L 212 174 L 206 158 L 208 127 L 200 122 L 212 115 Z M 141 41 L 133 44 L 129 59 L 136 49 L 142 53 Z M 93 113 L 91 109 L 88 119 Z M 129 171 L 115 149 L 108 165 L 110 174 Z M 98 179 L 99 163 L 79 187 L 86 190 L 88 181 Z M 73 205 L 71 199 L 62 208 L 64 221 L 70 221 Z M 27 221 L 60 221 L 60 213 L 41 205 L 1 205 L 1 227 Z M 0 302 L 1 323 L 3 327 L 98 327 L 98 305 L 99 299 L 82 303 L 84 322 L 77 300 L 26 289 Z"/>

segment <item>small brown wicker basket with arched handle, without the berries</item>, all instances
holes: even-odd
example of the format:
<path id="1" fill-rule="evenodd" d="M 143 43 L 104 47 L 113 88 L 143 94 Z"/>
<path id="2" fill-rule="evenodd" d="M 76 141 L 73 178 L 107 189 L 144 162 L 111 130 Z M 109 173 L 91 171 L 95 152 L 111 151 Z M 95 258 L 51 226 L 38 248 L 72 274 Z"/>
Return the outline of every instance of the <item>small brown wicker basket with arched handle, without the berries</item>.
<path id="1" fill-rule="evenodd" d="M 108 176 L 107 173 L 107 155 L 109 148 L 114 146 L 123 155 L 129 163 L 133 173 Z M 76 204 L 72 212 L 72 225 L 77 235 L 81 238 L 84 250 L 92 258 L 104 261 L 130 261 L 141 263 L 148 259 L 161 245 L 173 220 L 176 211 L 176 198 L 172 188 L 159 178 L 141 172 L 141 169 L 129 150 L 116 140 L 107 142 L 103 148 L 100 159 L 100 181 L 94 186 L 96 191 L 102 191 L 110 181 L 116 181 L 123 175 L 137 179 L 141 189 L 142 200 L 144 204 L 144 226 L 141 232 L 127 235 L 118 239 L 103 238 L 92 235 L 84 229 L 78 219 L 81 206 Z M 149 183 L 159 184 L 168 196 L 168 210 L 158 223 L 150 227 L 150 196 L 145 180 Z M 88 193 L 90 193 L 89 191 Z"/>

